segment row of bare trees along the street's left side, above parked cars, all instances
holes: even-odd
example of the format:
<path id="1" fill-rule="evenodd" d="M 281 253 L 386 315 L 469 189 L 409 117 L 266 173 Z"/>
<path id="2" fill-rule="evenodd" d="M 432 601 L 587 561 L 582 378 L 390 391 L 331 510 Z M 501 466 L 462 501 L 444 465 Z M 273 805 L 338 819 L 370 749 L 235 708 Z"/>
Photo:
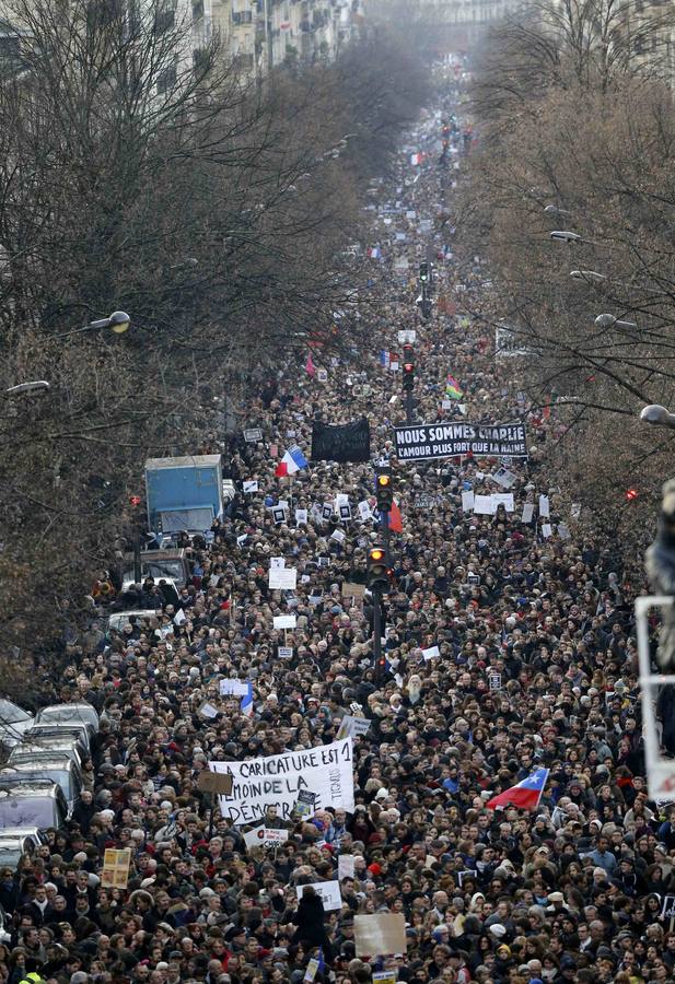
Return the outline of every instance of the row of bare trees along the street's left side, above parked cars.
<path id="1" fill-rule="evenodd" d="M 237 387 L 271 366 L 359 344 L 366 318 L 349 312 L 357 295 L 361 311 L 376 303 L 377 284 L 364 290 L 373 267 L 348 265 L 346 247 L 369 180 L 429 97 L 422 33 L 396 4 L 386 24 L 369 8 L 336 62 L 295 59 L 248 83 L 218 37 L 167 77 L 185 37 L 156 30 L 160 5 L 129 19 L 124 3 L 13 3 L 0 384 L 50 389 L 0 402 L 4 656 L 47 658 L 59 610 L 84 604 L 129 534 L 147 456 L 207 449 L 205 420 L 218 449 L 224 393 L 236 409 Z M 116 308 L 126 335 L 75 330 Z M 3 688 L 25 702 L 4 664 Z"/>

